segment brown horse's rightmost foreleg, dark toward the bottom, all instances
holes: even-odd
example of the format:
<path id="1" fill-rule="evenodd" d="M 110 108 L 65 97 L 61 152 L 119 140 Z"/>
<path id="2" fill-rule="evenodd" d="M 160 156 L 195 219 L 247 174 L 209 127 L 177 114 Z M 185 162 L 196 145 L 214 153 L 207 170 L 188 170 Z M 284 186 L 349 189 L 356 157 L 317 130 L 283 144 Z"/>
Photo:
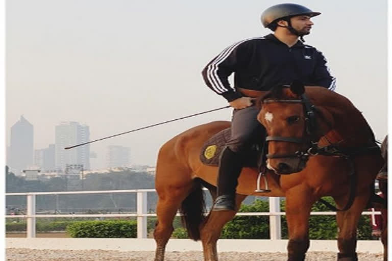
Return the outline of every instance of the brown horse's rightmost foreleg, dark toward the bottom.
<path id="1" fill-rule="evenodd" d="M 337 254 L 338 261 L 357 261 L 356 247 L 357 247 L 357 224 L 361 217 L 362 210 L 364 210 L 367 201 L 370 197 L 370 190 L 357 192 L 357 196 L 353 205 L 347 211 L 336 212 L 336 222 L 338 226 L 337 244 L 339 253 Z M 339 208 L 344 207 L 347 203 L 348 197 L 335 198 L 336 205 Z"/>

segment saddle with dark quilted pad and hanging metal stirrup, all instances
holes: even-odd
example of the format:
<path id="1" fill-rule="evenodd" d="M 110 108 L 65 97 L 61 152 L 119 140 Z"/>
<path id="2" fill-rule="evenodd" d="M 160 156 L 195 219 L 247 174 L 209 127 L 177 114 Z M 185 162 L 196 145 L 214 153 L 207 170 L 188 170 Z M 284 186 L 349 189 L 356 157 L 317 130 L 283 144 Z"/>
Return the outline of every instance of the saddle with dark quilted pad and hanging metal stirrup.
<path id="1" fill-rule="evenodd" d="M 227 141 L 230 139 L 231 129 L 226 128 L 209 138 L 202 146 L 200 151 L 200 160 L 203 164 L 208 166 L 219 166 L 220 154 L 225 148 Z M 271 192 L 268 189 L 268 182 L 265 177 L 265 155 L 266 149 L 263 149 L 264 141 L 252 144 L 250 149 L 245 153 L 246 161 L 243 167 L 258 168 L 259 176 L 257 178 L 255 192 Z M 261 178 L 264 180 L 264 188 L 260 188 Z"/>

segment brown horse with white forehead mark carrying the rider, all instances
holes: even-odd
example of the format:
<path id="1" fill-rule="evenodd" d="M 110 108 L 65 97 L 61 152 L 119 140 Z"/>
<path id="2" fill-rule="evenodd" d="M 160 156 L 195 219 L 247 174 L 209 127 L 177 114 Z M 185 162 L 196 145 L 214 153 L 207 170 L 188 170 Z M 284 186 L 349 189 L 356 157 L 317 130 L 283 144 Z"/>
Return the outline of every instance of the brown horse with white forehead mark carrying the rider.
<path id="1" fill-rule="evenodd" d="M 258 103 L 258 120 L 269 135 L 266 177 L 271 192 L 255 193 L 258 171 L 243 168 L 236 191 L 237 209 L 248 195 L 286 197 L 288 260 L 297 261 L 305 259 L 309 247 L 311 206 L 323 196 L 332 196 L 338 208 L 348 208 L 336 214 L 338 260 L 357 260 L 357 222 L 383 164 L 379 149 L 367 149 L 374 146 L 369 125 L 347 98 L 322 87 L 279 88 L 267 92 Z M 207 187 L 215 199 L 217 167 L 204 165 L 199 154 L 206 140 L 229 126 L 226 121 L 196 126 L 161 147 L 155 183 L 159 196 L 155 261 L 164 259 L 179 209 L 189 237 L 202 241 L 204 260 L 218 259 L 216 242 L 236 212 L 204 216 L 201 189 Z"/>

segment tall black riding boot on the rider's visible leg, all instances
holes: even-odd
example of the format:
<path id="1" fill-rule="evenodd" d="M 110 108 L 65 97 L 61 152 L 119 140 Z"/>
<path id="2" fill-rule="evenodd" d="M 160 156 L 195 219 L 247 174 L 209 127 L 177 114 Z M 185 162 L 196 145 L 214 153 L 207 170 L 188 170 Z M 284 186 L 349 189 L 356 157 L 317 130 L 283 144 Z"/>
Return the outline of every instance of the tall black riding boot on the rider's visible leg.
<path id="1" fill-rule="evenodd" d="M 212 211 L 235 211 L 235 188 L 242 169 L 242 156 L 226 147 L 220 156 L 217 198 Z"/>

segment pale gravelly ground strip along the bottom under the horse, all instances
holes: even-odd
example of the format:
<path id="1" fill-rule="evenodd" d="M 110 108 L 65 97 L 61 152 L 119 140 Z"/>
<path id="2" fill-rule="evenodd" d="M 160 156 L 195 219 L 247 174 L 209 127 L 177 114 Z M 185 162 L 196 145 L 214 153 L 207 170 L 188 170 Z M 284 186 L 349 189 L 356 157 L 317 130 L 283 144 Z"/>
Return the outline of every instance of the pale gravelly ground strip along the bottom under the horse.
<path id="1" fill-rule="evenodd" d="M 309 252 L 307 261 L 336 261 L 334 252 Z M 72 250 L 32 250 L 27 248 L 6 249 L 7 261 L 152 261 L 152 251 L 72 251 Z M 382 261 L 382 253 L 359 253 L 359 260 Z M 167 252 L 165 261 L 202 261 L 203 253 L 199 251 Z M 257 252 L 223 252 L 219 261 L 286 261 L 286 253 L 257 253 Z"/>

